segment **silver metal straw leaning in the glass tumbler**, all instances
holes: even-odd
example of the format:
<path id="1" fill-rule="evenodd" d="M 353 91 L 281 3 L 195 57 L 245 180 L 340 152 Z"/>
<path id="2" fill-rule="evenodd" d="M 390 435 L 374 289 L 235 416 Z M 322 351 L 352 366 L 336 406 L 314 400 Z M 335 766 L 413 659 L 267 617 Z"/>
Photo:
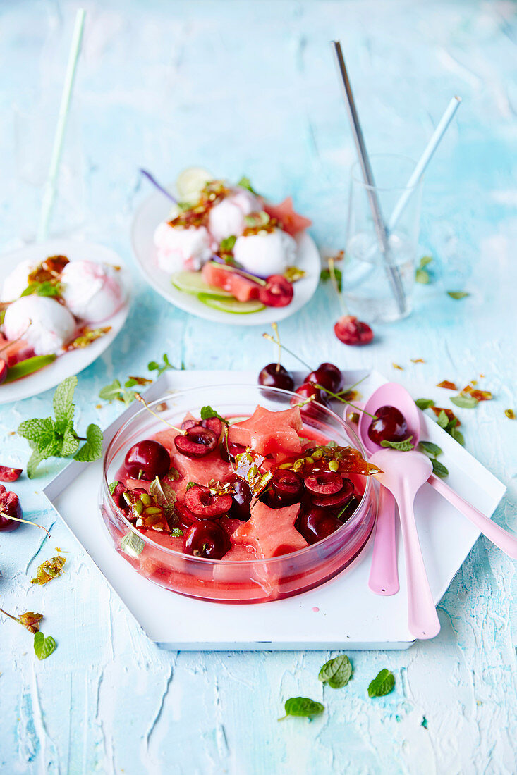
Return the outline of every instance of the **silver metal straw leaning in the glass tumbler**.
<path id="1" fill-rule="evenodd" d="M 338 66 L 339 74 L 341 75 L 343 94 L 345 96 L 345 105 L 349 113 L 352 134 L 354 136 L 356 150 L 359 156 L 359 164 L 361 171 L 363 172 L 366 194 L 368 195 L 368 201 L 370 203 L 370 209 L 373 215 L 373 224 L 375 226 L 376 236 L 379 241 L 380 251 L 383 254 L 384 262 L 386 264 L 387 277 L 390 281 L 398 311 L 401 312 L 401 314 L 404 314 L 406 310 L 406 300 L 404 288 L 401 282 L 401 275 L 398 267 L 395 267 L 390 260 L 390 246 L 388 243 L 387 230 L 383 222 L 379 200 L 377 199 L 376 195 L 375 181 L 373 180 L 370 159 L 368 157 L 368 153 L 366 152 L 363 130 L 361 129 L 361 125 L 359 123 L 359 116 L 357 115 L 356 103 L 354 102 L 352 95 L 352 87 L 350 85 L 349 74 L 346 70 L 345 60 L 343 58 L 341 43 L 338 40 L 333 40 L 331 42 L 331 46 L 335 53 L 335 60 Z"/>

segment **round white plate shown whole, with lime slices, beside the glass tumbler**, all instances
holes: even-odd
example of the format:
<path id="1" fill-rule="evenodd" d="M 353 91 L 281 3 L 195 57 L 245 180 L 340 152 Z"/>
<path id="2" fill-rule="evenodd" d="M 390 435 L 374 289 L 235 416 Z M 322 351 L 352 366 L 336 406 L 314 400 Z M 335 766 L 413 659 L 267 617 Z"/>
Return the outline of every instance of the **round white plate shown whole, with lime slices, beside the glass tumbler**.
<path id="1" fill-rule="evenodd" d="M 167 218 L 170 202 L 158 191 L 144 200 L 138 208 L 132 229 L 133 250 L 138 266 L 145 279 L 155 291 L 171 304 L 191 315 L 230 325 L 265 325 L 289 318 L 309 301 L 320 279 L 321 260 L 314 239 L 302 232 L 297 240 L 297 267 L 307 272 L 306 276 L 294 283 L 293 301 L 286 307 L 266 307 L 251 314 L 220 312 L 207 307 L 196 296 L 174 288 L 171 275 L 158 267 L 156 248 L 154 247 L 154 229 Z"/>

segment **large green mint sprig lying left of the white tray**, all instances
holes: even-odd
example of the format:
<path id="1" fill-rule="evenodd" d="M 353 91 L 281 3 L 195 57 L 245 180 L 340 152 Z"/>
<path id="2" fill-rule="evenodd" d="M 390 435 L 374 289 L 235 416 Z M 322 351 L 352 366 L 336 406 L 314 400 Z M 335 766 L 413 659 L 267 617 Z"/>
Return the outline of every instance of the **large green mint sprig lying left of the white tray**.
<path id="1" fill-rule="evenodd" d="M 27 463 L 27 476 L 32 479 L 36 469 L 49 457 L 74 456 L 75 460 L 90 462 L 102 453 L 102 431 L 98 425 L 88 425 L 86 437 L 79 436 L 74 428 L 75 404 L 73 402 L 77 377 L 67 377 L 54 392 L 54 417 L 25 420 L 18 426 L 19 436 L 29 442 L 33 450 Z M 81 441 L 85 444 L 79 447 Z"/>

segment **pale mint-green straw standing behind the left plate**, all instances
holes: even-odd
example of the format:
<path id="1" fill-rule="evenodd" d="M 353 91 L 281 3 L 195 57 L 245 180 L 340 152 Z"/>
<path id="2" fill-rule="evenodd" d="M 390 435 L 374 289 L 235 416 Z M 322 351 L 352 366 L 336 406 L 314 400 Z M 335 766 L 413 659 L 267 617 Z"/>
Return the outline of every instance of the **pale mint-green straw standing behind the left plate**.
<path id="1" fill-rule="evenodd" d="M 68 112 L 70 109 L 70 100 L 72 89 L 74 88 L 75 71 L 77 62 L 81 53 L 82 29 L 85 24 L 85 9 L 78 9 L 75 14 L 74 34 L 71 40 L 70 53 L 68 54 L 67 71 L 64 77 L 63 93 L 61 95 L 61 104 L 59 106 L 59 115 L 57 116 L 56 134 L 54 136 L 54 146 L 52 146 L 52 156 L 50 157 L 50 167 L 47 181 L 43 191 L 43 202 L 41 204 L 40 223 L 38 225 L 37 239 L 47 239 L 50 214 L 56 198 L 57 175 L 61 164 L 61 153 L 63 151 L 64 133 L 67 126 Z"/>

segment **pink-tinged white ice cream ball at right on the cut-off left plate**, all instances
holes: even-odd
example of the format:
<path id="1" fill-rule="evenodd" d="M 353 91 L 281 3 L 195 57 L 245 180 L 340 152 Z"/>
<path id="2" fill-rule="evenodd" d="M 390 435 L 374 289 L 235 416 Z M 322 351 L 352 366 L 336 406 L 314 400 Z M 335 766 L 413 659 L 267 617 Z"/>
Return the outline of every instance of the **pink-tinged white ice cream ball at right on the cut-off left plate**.
<path id="1" fill-rule="evenodd" d="M 76 318 L 98 323 L 123 305 L 120 272 L 107 263 L 70 261 L 61 274 L 61 295 Z"/>

